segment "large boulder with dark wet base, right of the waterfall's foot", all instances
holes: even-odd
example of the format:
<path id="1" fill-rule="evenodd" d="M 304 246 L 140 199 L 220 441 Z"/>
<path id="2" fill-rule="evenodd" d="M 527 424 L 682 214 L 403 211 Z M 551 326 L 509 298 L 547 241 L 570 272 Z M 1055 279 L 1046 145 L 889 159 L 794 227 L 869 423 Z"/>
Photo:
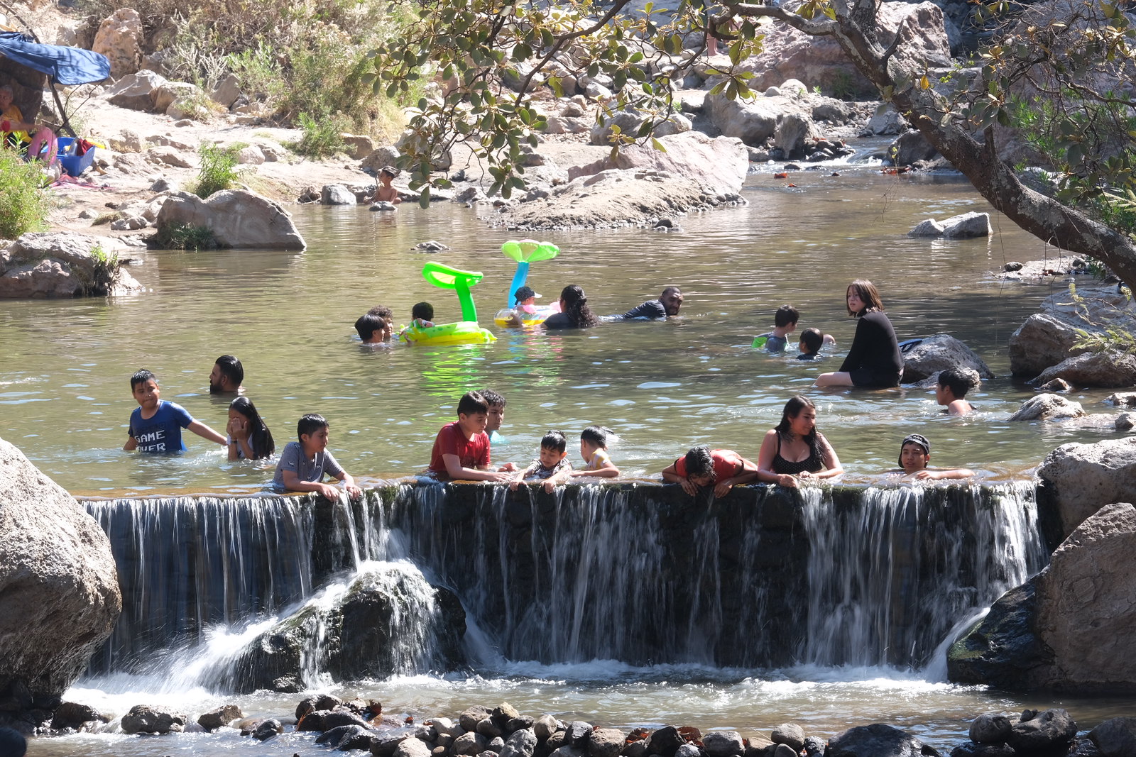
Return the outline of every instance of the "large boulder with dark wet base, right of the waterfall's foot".
<path id="1" fill-rule="evenodd" d="M 952 645 L 949 678 L 1018 691 L 1136 692 L 1134 575 L 1136 508 L 1106 505 L 1069 535 L 1045 570 Z M 1022 745 L 1041 738 L 1024 734 Z"/>

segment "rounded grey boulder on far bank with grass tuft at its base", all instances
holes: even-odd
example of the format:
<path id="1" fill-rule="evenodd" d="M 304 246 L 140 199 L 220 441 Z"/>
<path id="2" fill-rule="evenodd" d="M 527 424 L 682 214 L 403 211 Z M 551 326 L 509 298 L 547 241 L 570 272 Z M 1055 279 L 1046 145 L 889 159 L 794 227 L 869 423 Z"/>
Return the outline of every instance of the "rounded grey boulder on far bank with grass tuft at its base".
<path id="1" fill-rule="evenodd" d="M 223 190 L 202 200 L 190 192 L 172 192 L 158 212 L 159 236 L 170 225 L 204 227 L 220 247 L 303 250 L 303 237 L 292 215 L 277 203 L 247 190 Z"/>

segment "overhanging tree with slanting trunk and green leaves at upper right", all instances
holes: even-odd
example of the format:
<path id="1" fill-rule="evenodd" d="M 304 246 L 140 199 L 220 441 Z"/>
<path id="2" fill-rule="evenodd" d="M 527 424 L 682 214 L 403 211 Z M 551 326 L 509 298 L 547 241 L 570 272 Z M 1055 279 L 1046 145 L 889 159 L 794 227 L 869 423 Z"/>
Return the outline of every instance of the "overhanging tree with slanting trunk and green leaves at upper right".
<path id="1" fill-rule="evenodd" d="M 403 150 L 423 202 L 431 186 L 448 186 L 433 166 L 458 142 L 484 162 L 491 193 L 508 197 L 524 186 L 523 146 L 535 146 L 546 126 L 536 95 L 561 93 L 569 78 L 610 79 L 601 117 L 628 107 L 646 116 L 635 134 L 613 131 L 613 150 L 650 138 L 674 112 L 675 83 L 703 52 L 707 26 L 728 44 L 711 92 L 749 98 L 752 74 L 741 64 L 784 24 L 835 39 L 880 98 L 1011 220 L 1136 284 L 1136 45 L 1112 0 L 978 6 L 986 42 L 974 65 L 951 72 L 897 54 L 916 36 L 913 22 L 884 34 L 875 0 L 709 8 L 682 0 L 671 10 L 649 2 L 627 12 L 628 2 L 399 0 L 407 22 L 396 42 L 376 50 L 369 76 L 391 96 L 421 93 Z M 1022 166 L 999 158 L 1008 140 L 1031 145 L 1047 173 L 1025 175 L 1027 185 Z"/>

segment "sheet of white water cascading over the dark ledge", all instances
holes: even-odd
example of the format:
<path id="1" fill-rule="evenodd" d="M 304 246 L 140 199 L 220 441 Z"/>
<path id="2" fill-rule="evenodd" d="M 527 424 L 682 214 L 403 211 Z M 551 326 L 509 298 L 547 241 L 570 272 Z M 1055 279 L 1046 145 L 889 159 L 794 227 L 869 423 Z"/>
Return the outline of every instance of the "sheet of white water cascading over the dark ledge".
<path id="1" fill-rule="evenodd" d="M 919 668 L 1046 555 L 1031 482 L 751 486 L 721 499 L 635 483 L 404 485 L 353 503 L 86 507 L 110 537 L 124 602 L 97 672 L 282 614 L 365 561 L 409 561 L 451 589 L 510 659 Z"/>

